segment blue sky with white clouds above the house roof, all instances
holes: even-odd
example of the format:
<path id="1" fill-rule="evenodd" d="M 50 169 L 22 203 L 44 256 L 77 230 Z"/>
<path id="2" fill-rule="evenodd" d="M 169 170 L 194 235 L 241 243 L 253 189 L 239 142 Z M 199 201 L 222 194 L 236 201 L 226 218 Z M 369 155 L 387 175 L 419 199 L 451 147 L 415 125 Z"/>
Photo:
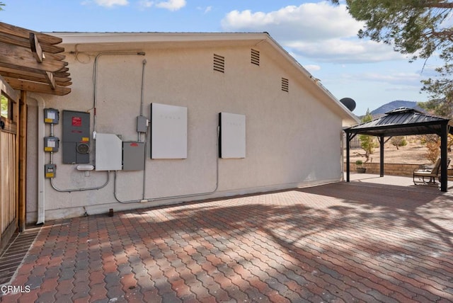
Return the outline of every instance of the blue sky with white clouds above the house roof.
<path id="1" fill-rule="evenodd" d="M 40 32 L 268 32 L 356 115 L 395 100 L 427 101 L 420 80 L 438 63 L 409 63 L 359 40 L 345 6 L 284 0 L 4 0 L 0 21 Z M 422 72 L 423 70 L 423 72 Z"/>

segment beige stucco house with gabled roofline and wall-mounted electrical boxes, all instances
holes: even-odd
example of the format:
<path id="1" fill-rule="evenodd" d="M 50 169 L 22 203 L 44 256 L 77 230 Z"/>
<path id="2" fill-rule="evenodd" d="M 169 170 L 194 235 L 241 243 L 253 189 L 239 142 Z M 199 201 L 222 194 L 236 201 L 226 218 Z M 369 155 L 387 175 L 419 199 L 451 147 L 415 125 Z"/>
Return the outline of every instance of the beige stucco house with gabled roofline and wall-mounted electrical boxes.
<path id="1" fill-rule="evenodd" d="M 52 35 L 71 93 L 28 95 L 29 223 L 343 179 L 357 118 L 267 33 Z"/>

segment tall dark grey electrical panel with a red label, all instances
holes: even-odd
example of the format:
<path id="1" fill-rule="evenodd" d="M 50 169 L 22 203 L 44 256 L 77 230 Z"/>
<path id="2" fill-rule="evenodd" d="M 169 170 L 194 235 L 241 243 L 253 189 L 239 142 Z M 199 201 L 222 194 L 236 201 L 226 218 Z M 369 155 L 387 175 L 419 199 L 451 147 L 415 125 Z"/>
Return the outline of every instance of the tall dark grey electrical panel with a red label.
<path id="1" fill-rule="evenodd" d="M 90 162 L 90 114 L 63 110 L 63 163 Z"/>

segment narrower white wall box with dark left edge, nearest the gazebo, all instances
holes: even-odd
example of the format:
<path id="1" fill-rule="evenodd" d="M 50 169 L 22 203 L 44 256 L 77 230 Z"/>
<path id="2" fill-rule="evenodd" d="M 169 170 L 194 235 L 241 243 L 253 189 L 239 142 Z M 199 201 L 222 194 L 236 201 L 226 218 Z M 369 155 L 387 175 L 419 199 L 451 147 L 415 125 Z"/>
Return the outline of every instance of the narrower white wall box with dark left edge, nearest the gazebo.
<path id="1" fill-rule="evenodd" d="M 219 113 L 220 137 L 219 157 L 246 157 L 246 116 Z"/>

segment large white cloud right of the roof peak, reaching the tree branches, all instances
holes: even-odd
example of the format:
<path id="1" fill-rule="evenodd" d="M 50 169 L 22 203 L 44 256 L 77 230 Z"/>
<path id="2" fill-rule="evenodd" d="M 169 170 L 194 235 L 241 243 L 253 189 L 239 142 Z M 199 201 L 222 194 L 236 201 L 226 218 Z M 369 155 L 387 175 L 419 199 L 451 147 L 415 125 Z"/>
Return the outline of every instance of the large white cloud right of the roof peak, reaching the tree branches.
<path id="1" fill-rule="evenodd" d="M 270 12 L 231 11 L 222 20 L 227 31 L 268 32 L 297 57 L 336 63 L 404 59 L 389 45 L 359 40 L 357 31 L 362 26 L 344 4 L 333 6 L 328 1 Z"/>

